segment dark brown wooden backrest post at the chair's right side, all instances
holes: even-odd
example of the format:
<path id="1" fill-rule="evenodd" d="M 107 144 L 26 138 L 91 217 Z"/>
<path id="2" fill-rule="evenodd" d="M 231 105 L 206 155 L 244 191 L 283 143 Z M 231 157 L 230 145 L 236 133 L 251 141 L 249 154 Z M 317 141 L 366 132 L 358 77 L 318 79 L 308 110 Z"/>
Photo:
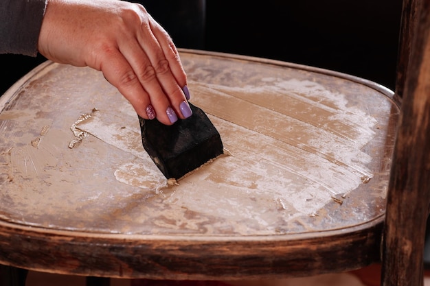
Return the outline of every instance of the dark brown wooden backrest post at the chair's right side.
<path id="1" fill-rule="evenodd" d="M 422 285 L 430 202 L 430 1 L 405 0 L 396 95 L 402 111 L 389 180 L 383 285 Z"/>

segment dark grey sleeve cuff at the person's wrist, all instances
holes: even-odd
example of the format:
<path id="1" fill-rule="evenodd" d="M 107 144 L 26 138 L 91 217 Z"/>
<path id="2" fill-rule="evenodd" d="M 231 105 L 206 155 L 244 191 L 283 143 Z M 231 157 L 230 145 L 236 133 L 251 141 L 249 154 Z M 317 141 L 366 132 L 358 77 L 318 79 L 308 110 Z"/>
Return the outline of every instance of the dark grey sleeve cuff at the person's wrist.
<path id="1" fill-rule="evenodd" d="M 37 56 L 47 0 L 0 0 L 0 53 Z"/>

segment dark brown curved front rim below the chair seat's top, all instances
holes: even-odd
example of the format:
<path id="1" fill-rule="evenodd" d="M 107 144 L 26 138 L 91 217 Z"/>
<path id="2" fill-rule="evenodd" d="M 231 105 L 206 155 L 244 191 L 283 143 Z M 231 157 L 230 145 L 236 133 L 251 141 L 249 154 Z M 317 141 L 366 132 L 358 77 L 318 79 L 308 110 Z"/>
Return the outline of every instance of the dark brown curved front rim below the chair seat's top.
<path id="1" fill-rule="evenodd" d="M 370 265 L 379 259 L 382 225 L 369 223 L 348 232 L 297 239 L 190 241 L 34 233 L 29 228 L 1 230 L 0 257 L 30 270 L 117 278 L 220 280 L 310 276 Z"/>

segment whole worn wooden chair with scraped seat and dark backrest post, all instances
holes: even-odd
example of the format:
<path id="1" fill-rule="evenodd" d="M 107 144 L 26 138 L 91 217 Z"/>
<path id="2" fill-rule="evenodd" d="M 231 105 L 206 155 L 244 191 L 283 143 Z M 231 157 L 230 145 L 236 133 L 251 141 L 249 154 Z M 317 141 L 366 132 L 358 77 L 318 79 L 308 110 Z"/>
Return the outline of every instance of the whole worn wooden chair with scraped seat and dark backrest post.
<path id="1" fill-rule="evenodd" d="M 422 285 L 429 5 L 404 2 L 395 94 L 323 69 L 181 50 L 191 101 L 233 156 L 179 186 L 153 169 L 133 110 L 100 73 L 42 64 L 0 98 L 0 281 L 24 285 L 27 270 L 88 285 L 228 281 L 382 261 L 383 285 Z"/>

